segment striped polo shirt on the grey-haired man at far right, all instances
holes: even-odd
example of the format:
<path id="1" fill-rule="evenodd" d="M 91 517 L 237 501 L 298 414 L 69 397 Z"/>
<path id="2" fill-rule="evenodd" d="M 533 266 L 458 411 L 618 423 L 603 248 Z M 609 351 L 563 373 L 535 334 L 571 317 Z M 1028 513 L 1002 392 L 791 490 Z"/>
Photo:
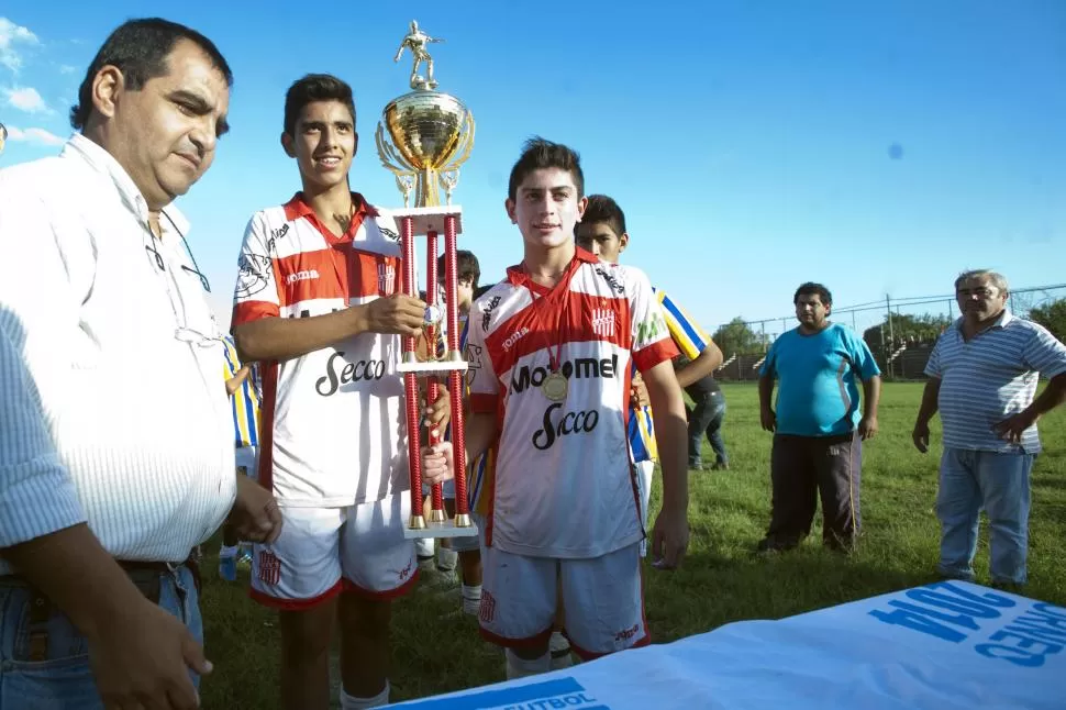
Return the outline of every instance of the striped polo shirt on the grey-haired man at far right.
<path id="1" fill-rule="evenodd" d="M 944 446 L 970 451 L 1028 454 L 1040 452 L 1033 424 L 1021 446 L 1000 439 L 997 423 L 1033 402 L 1039 375 L 1066 373 L 1066 346 L 1042 325 L 1009 311 L 969 342 L 958 319 L 936 340 L 925 374 L 941 380 L 940 414 Z"/>

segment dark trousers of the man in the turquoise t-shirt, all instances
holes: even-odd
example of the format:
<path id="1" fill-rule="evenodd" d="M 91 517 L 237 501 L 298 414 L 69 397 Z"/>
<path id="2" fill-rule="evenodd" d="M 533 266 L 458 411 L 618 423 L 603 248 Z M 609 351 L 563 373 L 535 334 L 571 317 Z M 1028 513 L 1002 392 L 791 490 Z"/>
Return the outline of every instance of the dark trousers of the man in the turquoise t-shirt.
<path id="1" fill-rule="evenodd" d="M 856 433 L 840 436 L 776 434 L 770 453 L 774 500 L 766 544 L 798 545 L 811 532 L 815 496 L 822 499 L 822 542 L 850 550 L 859 532 L 863 443 Z"/>

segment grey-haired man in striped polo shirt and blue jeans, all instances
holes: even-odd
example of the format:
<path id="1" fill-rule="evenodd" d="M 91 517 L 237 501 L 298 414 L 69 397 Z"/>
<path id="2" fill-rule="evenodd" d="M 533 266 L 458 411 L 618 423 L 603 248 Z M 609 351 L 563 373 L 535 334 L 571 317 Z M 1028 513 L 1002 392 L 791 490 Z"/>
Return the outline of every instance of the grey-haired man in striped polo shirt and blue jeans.
<path id="1" fill-rule="evenodd" d="M 936 515 L 937 570 L 974 577 L 978 513 L 991 526 L 995 585 L 1026 580 L 1030 473 L 1040 453 L 1036 421 L 1066 400 L 1066 346 L 1007 309 L 1007 279 L 966 271 L 955 280 L 963 315 L 941 334 L 930 355 L 914 445 L 929 451 L 929 421 L 944 425 Z M 1051 378 L 1036 395 L 1040 375 Z"/>

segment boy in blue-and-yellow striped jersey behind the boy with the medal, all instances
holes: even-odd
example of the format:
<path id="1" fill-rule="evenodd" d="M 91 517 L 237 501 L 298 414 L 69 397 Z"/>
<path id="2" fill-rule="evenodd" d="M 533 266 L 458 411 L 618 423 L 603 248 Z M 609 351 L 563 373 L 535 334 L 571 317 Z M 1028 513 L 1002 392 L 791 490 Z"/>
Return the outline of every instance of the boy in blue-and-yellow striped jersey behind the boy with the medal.
<path id="1" fill-rule="evenodd" d="M 625 213 L 618 202 L 606 195 L 590 195 L 588 208 L 585 217 L 577 225 L 577 245 L 588 249 L 600 260 L 610 264 L 618 264 L 619 257 L 629 245 L 630 235 L 625 230 Z M 711 373 L 722 363 L 722 351 L 711 342 L 710 336 L 688 317 L 688 314 L 666 295 L 666 291 L 653 289 L 655 297 L 663 309 L 663 317 L 669 329 L 670 337 L 677 345 L 686 362 L 679 364 L 675 370 L 677 382 L 696 402 L 697 410 L 692 413 L 689 422 L 689 468 L 699 469 L 700 443 L 707 424 L 702 424 L 700 413 L 701 406 L 706 407 L 703 391 L 714 391 L 721 400 L 721 390 L 711 378 Z M 647 406 L 646 395 L 643 390 L 640 375 L 634 375 L 636 390 L 633 393 L 633 407 L 629 424 L 630 447 L 633 451 L 633 461 L 636 463 L 641 477 L 641 500 L 643 503 L 645 523 L 647 521 L 647 506 L 652 495 L 652 472 L 655 468 L 655 459 L 658 452 L 655 447 L 655 429 L 652 419 L 652 409 Z M 707 381 L 713 384 L 710 387 Z M 712 403 L 713 406 L 713 403 Z M 724 401 L 722 401 L 724 409 Z M 721 420 L 719 419 L 719 424 Z M 695 444 L 693 444 L 695 425 Z M 715 430 L 717 431 L 717 430 Z M 712 440 L 713 441 L 713 440 Z M 724 453 L 724 452 L 723 452 Z"/>

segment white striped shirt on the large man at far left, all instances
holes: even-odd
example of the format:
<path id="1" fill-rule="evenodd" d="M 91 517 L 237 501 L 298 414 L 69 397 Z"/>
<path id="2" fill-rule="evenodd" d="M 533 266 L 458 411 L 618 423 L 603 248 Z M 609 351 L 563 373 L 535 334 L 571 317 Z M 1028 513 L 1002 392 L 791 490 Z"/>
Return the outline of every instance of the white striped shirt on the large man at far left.
<path id="1" fill-rule="evenodd" d="M 80 135 L 0 170 L 0 546 L 84 520 L 118 558 L 179 562 L 232 507 L 221 333 L 187 223 L 160 222 L 155 238 L 136 186 Z"/>

